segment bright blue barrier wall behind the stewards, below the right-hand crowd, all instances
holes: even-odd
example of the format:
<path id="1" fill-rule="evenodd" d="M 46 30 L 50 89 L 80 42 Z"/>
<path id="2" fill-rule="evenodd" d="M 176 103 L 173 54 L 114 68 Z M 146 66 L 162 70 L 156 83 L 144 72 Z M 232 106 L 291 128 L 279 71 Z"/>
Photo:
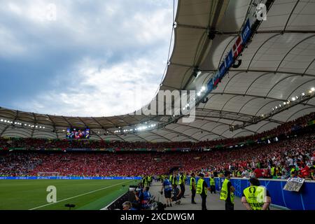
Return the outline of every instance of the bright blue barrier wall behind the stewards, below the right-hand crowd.
<path id="1" fill-rule="evenodd" d="M 196 177 L 196 181 L 198 177 Z M 210 186 L 209 178 L 204 178 Z M 224 178 L 215 178 L 216 190 L 220 191 Z M 230 179 L 235 187 L 235 196 L 241 197 L 243 190 L 250 186 L 248 179 Z M 272 206 L 281 209 L 292 210 L 315 210 L 315 181 L 304 181 L 300 191 L 283 190 L 286 180 L 279 179 L 259 179 L 260 184 L 265 186 L 272 197 Z M 187 180 L 189 184 L 189 177 Z"/>

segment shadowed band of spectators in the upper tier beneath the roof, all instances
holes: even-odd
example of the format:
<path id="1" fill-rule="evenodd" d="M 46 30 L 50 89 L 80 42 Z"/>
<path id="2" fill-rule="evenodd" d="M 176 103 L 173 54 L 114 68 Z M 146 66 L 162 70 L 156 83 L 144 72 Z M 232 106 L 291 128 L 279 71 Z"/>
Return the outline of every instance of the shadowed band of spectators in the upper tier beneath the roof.
<path id="1" fill-rule="evenodd" d="M 315 113 L 309 113 L 307 116 L 297 118 L 288 123 L 284 123 L 260 134 L 254 134 L 247 137 L 238 137 L 233 139 L 218 139 L 214 141 L 200 141 L 197 143 L 182 142 L 126 142 L 126 141 L 93 141 L 93 140 L 69 140 L 69 139 L 5 139 L 0 138 L 0 149 L 23 148 L 25 150 L 39 150 L 43 148 L 123 148 L 125 150 L 135 148 L 190 148 L 190 150 L 199 150 L 200 148 L 214 148 L 215 146 L 233 146 L 244 141 L 258 141 L 264 137 L 276 137 L 279 135 L 287 135 L 290 132 L 306 127 L 309 120 L 315 119 Z"/>

